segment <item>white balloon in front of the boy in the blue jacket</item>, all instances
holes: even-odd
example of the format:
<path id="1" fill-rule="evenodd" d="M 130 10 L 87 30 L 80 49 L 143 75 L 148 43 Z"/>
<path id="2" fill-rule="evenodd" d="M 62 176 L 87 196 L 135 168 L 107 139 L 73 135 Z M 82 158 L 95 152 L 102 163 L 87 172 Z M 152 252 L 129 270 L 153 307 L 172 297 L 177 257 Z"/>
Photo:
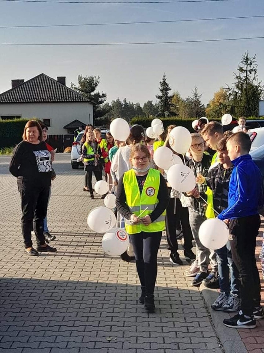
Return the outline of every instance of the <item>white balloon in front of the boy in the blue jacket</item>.
<path id="1" fill-rule="evenodd" d="M 218 218 L 209 218 L 199 228 L 199 239 L 208 249 L 221 249 L 229 239 L 229 230 L 225 222 Z"/>

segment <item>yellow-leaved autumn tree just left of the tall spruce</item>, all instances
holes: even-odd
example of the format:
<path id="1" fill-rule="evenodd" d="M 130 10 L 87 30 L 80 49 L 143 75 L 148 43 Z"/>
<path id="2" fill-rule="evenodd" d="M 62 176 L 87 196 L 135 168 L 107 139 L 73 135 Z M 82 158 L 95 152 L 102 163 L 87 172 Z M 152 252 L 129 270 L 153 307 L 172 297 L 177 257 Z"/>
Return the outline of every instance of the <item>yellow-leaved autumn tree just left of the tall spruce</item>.
<path id="1" fill-rule="evenodd" d="M 224 87 L 214 92 L 214 97 L 207 104 L 205 112 L 208 119 L 221 118 L 222 115 L 230 112 L 228 93 Z"/>

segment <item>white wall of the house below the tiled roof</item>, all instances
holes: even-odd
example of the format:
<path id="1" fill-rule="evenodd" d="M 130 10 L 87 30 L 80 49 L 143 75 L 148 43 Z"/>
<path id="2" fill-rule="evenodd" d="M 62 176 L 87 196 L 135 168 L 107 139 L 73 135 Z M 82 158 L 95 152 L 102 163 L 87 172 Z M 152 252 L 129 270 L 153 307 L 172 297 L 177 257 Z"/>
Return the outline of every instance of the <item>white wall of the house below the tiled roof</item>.
<path id="1" fill-rule="evenodd" d="M 1 115 L 21 118 L 50 119 L 49 134 L 67 134 L 63 126 L 77 119 L 93 125 L 93 104 L 79 103 L 0 103 Z"/>

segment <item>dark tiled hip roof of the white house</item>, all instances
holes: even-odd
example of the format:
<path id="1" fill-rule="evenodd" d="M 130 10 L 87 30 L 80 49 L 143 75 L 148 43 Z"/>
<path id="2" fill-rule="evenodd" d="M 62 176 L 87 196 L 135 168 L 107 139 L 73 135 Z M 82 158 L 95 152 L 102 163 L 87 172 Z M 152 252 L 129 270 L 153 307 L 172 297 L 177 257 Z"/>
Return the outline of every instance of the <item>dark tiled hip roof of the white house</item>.
<path id="1" fill-rule="evenodd" d="M 61 102 L 90 101 L 44 73 L 0 94 L 0 104 Z"/>

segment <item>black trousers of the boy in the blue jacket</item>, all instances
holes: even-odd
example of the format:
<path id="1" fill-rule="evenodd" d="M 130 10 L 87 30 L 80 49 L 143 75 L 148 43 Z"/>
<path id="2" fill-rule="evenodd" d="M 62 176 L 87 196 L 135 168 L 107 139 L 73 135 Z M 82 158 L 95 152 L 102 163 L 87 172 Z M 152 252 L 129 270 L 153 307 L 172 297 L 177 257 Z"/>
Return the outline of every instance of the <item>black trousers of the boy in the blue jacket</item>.
<path id="1" fill-rule="evenodd" d="M 253 306 L 260 305 L 260 280 L 256 264 L 256 237 L 260 227 L 259 215 L 230 221 L 231 250 L 241 281 L 241 309 L 251 316 Z"/>

